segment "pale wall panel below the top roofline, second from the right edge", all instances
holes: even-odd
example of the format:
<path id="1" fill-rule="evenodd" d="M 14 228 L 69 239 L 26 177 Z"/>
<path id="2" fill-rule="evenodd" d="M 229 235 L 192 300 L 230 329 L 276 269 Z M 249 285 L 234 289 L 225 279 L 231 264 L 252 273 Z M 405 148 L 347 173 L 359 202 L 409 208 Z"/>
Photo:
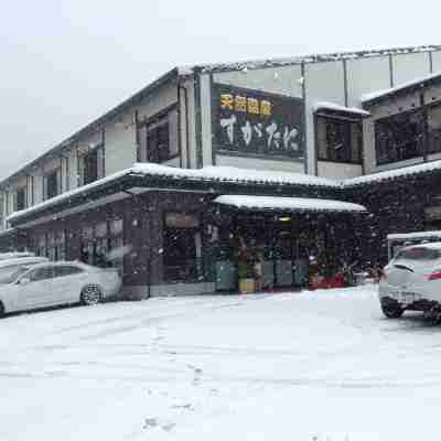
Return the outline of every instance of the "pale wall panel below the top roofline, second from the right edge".
<path id="1" fill-rule="evenodd" d="M 430 74 L 429 53 L 392 55 L 394 86 Z"/>

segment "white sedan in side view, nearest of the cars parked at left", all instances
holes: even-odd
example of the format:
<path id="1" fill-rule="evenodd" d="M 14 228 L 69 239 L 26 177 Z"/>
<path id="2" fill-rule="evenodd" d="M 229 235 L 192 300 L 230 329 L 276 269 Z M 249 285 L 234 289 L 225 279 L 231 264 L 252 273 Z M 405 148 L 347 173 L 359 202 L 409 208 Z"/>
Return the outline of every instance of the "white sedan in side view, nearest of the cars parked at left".
<path id="1" fill-rule="evenodd" d="M 96 304 L 121 289 L 117 269 L 77 261 L 20 266 L 0 276 L 0 314 L 60 304 Z"/>

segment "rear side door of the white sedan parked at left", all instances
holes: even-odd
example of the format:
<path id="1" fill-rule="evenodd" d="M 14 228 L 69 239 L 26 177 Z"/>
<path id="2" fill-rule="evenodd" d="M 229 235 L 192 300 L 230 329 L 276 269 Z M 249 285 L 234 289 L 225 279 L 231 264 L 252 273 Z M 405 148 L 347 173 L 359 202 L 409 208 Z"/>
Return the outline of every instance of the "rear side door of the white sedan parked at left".
<path id="1" fill-rule="evenodd" d="M 54 267 L 54 293 L 56 303 L 75 303 L 85 282 L 86 272 L 75 265 Z"/>

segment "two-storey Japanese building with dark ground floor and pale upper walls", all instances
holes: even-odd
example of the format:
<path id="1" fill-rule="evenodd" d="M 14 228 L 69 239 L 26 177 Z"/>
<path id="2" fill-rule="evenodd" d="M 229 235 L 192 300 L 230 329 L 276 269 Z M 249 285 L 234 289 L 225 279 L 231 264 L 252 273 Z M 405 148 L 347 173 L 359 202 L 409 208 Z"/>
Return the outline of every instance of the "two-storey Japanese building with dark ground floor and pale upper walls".
<path id="1" fill-rule="evenodd" d="M 106 260 L 135 297 L 234 289 L 245 243 L 266 287 L 384 261 L 441 219 L 440 90 L 441 46 L 174 68 L 0 183 L 0 248 Z"/>

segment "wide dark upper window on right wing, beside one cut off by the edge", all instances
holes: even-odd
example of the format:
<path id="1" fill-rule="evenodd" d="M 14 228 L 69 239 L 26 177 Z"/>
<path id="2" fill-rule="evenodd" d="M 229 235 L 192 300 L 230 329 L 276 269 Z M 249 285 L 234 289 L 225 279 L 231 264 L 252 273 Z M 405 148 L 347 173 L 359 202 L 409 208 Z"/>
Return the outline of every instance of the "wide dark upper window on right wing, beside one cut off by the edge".
<path id="1" fill-rule="evenodd" d="M 422 157 L 422 121 L 420 109 L 375 121 L 377 165 Z"/>

